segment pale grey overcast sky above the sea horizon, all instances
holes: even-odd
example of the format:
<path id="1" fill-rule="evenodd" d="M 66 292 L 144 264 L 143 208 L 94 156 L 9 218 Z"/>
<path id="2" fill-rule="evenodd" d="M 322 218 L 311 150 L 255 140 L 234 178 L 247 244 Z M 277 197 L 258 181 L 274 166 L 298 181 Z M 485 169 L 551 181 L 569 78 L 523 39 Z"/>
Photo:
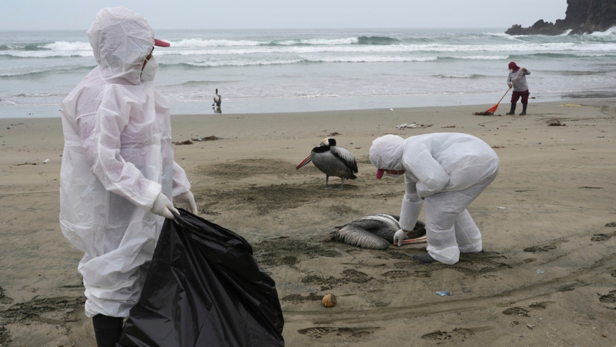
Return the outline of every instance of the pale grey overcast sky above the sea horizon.
<path id="1" fill-rule="evenodd" d="M 200 28 L 509 28 L 565 18 L 567 0 L 1 0 L 0 29 L 83 29 L 126 6 L 154 30 Z"/>

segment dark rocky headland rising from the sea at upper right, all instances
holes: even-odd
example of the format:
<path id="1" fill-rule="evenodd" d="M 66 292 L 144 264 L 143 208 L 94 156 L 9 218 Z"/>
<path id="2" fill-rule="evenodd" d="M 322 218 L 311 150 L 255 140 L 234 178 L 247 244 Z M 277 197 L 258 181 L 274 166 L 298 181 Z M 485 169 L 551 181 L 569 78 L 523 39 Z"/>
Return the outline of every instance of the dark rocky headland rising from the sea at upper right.
<path id="1" fill-rule="evenodd" d="M 538 20 L 531 27 L 522 28 L 515 24 L 507 31 L 508 35 L 569 35 L 588 34 L 606 31 L 616 27 L 616 1 L 614 0 L 567 0 L 565 19 L 555 23 Z"/>

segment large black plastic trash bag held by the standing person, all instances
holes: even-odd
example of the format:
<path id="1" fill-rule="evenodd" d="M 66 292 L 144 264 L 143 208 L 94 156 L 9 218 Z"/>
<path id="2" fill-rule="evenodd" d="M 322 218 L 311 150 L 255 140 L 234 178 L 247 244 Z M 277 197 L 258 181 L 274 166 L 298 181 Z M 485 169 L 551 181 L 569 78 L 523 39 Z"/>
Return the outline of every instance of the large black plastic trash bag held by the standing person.
<path id="1" fill-rule="evenodd" d="M 275 282 L 248 241 L 180 209 L 168 219 L 120 346 L 284 346 Z"/>

